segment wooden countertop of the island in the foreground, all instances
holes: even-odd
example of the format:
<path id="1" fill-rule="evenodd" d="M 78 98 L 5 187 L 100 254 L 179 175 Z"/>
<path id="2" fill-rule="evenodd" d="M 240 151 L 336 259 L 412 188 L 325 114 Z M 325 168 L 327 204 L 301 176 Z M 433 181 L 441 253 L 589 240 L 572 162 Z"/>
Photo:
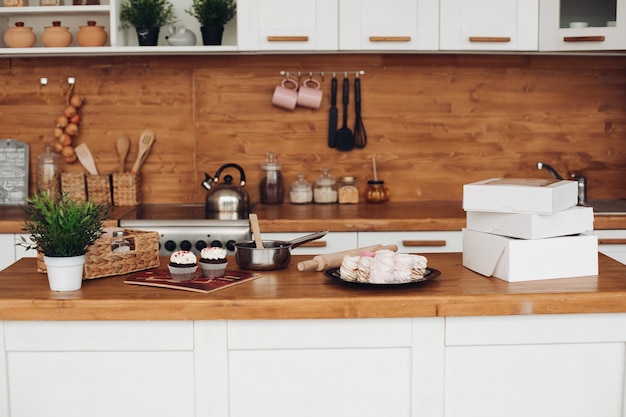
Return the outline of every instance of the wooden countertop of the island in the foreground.
<path id="1" fill-rule="evenodd" d="M 123 276 L 55 293 L 36 260 L 0 272 L 0 320 L 247 320 L 626 312 L 626 266 L 599 255 L 598 276 L 507 283 L 478 275 L 460 253 L 429 254 L 433 281 L 376 287 L 288 269 L 203 294 L 124 284 Z M 166 258 L 162 259 L 165 265 Z M 236 269 L 230 259 L 229 269 Z"/>

